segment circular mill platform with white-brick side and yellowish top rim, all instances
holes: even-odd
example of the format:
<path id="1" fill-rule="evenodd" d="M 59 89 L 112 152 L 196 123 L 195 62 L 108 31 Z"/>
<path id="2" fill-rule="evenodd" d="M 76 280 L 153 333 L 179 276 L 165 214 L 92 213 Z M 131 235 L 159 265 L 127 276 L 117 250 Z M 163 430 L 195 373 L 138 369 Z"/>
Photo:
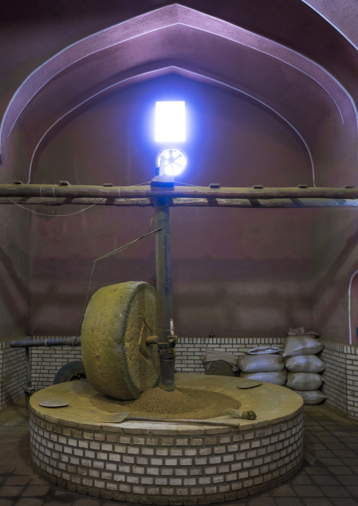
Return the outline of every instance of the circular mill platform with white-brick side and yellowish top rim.
<path id="1" fill-rule="evenodd" d="M 204 505 L 252 495 L 289 479 L 302 464 L 302 398 L 270 383 L 240 390 L 240 378 L 175 375 L 176 385 L 232 395 L 257 413 L 239 428 L 130 422 L 104 424 L 86 380 L 30 399 L 36 471 L 51 483 L 96 497 L 154 505 Z M 46 408 L 41 400 L 66 400 Z M 216 420 L 237 421 L 221 417 Z"/>

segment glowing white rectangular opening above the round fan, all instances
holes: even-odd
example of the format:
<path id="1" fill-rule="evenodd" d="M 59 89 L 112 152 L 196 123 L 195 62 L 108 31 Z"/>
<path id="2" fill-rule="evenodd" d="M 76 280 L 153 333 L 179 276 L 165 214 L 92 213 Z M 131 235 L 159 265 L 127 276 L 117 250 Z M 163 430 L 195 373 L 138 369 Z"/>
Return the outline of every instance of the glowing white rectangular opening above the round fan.
<path id="1" fill-rule="evenodd" d="M 185 141 L 185 102 L 156 102 L 156 142 Z"/>

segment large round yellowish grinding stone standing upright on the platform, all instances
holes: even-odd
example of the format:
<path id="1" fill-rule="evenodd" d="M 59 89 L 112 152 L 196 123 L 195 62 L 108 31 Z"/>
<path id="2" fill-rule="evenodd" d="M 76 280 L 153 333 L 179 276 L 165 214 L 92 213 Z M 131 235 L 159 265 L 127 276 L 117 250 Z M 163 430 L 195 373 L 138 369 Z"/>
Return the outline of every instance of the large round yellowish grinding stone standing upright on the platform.
<path id="1" fill-rule="evenodd" d="M 82 324 L 82 359 L 91 385 L 109 397 L 133 400 L 159 379 L 156 291 L 130 281 L 94 293 Z"/>

